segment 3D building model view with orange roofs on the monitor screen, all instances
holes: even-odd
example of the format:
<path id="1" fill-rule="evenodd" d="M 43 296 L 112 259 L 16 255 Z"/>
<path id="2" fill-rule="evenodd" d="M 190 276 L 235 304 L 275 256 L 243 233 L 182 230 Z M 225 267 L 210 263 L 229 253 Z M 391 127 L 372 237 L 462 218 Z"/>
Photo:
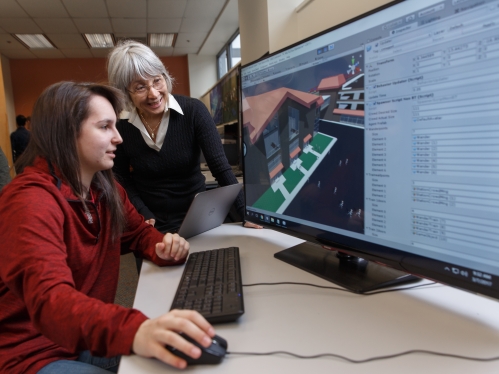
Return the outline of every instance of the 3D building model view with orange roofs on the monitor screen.
<path id="1" fill-rule="evenodd" d="M 243 90 L 246 199 L 262 217 L 363 232 L 362 61 L 358 53 Z"/>

